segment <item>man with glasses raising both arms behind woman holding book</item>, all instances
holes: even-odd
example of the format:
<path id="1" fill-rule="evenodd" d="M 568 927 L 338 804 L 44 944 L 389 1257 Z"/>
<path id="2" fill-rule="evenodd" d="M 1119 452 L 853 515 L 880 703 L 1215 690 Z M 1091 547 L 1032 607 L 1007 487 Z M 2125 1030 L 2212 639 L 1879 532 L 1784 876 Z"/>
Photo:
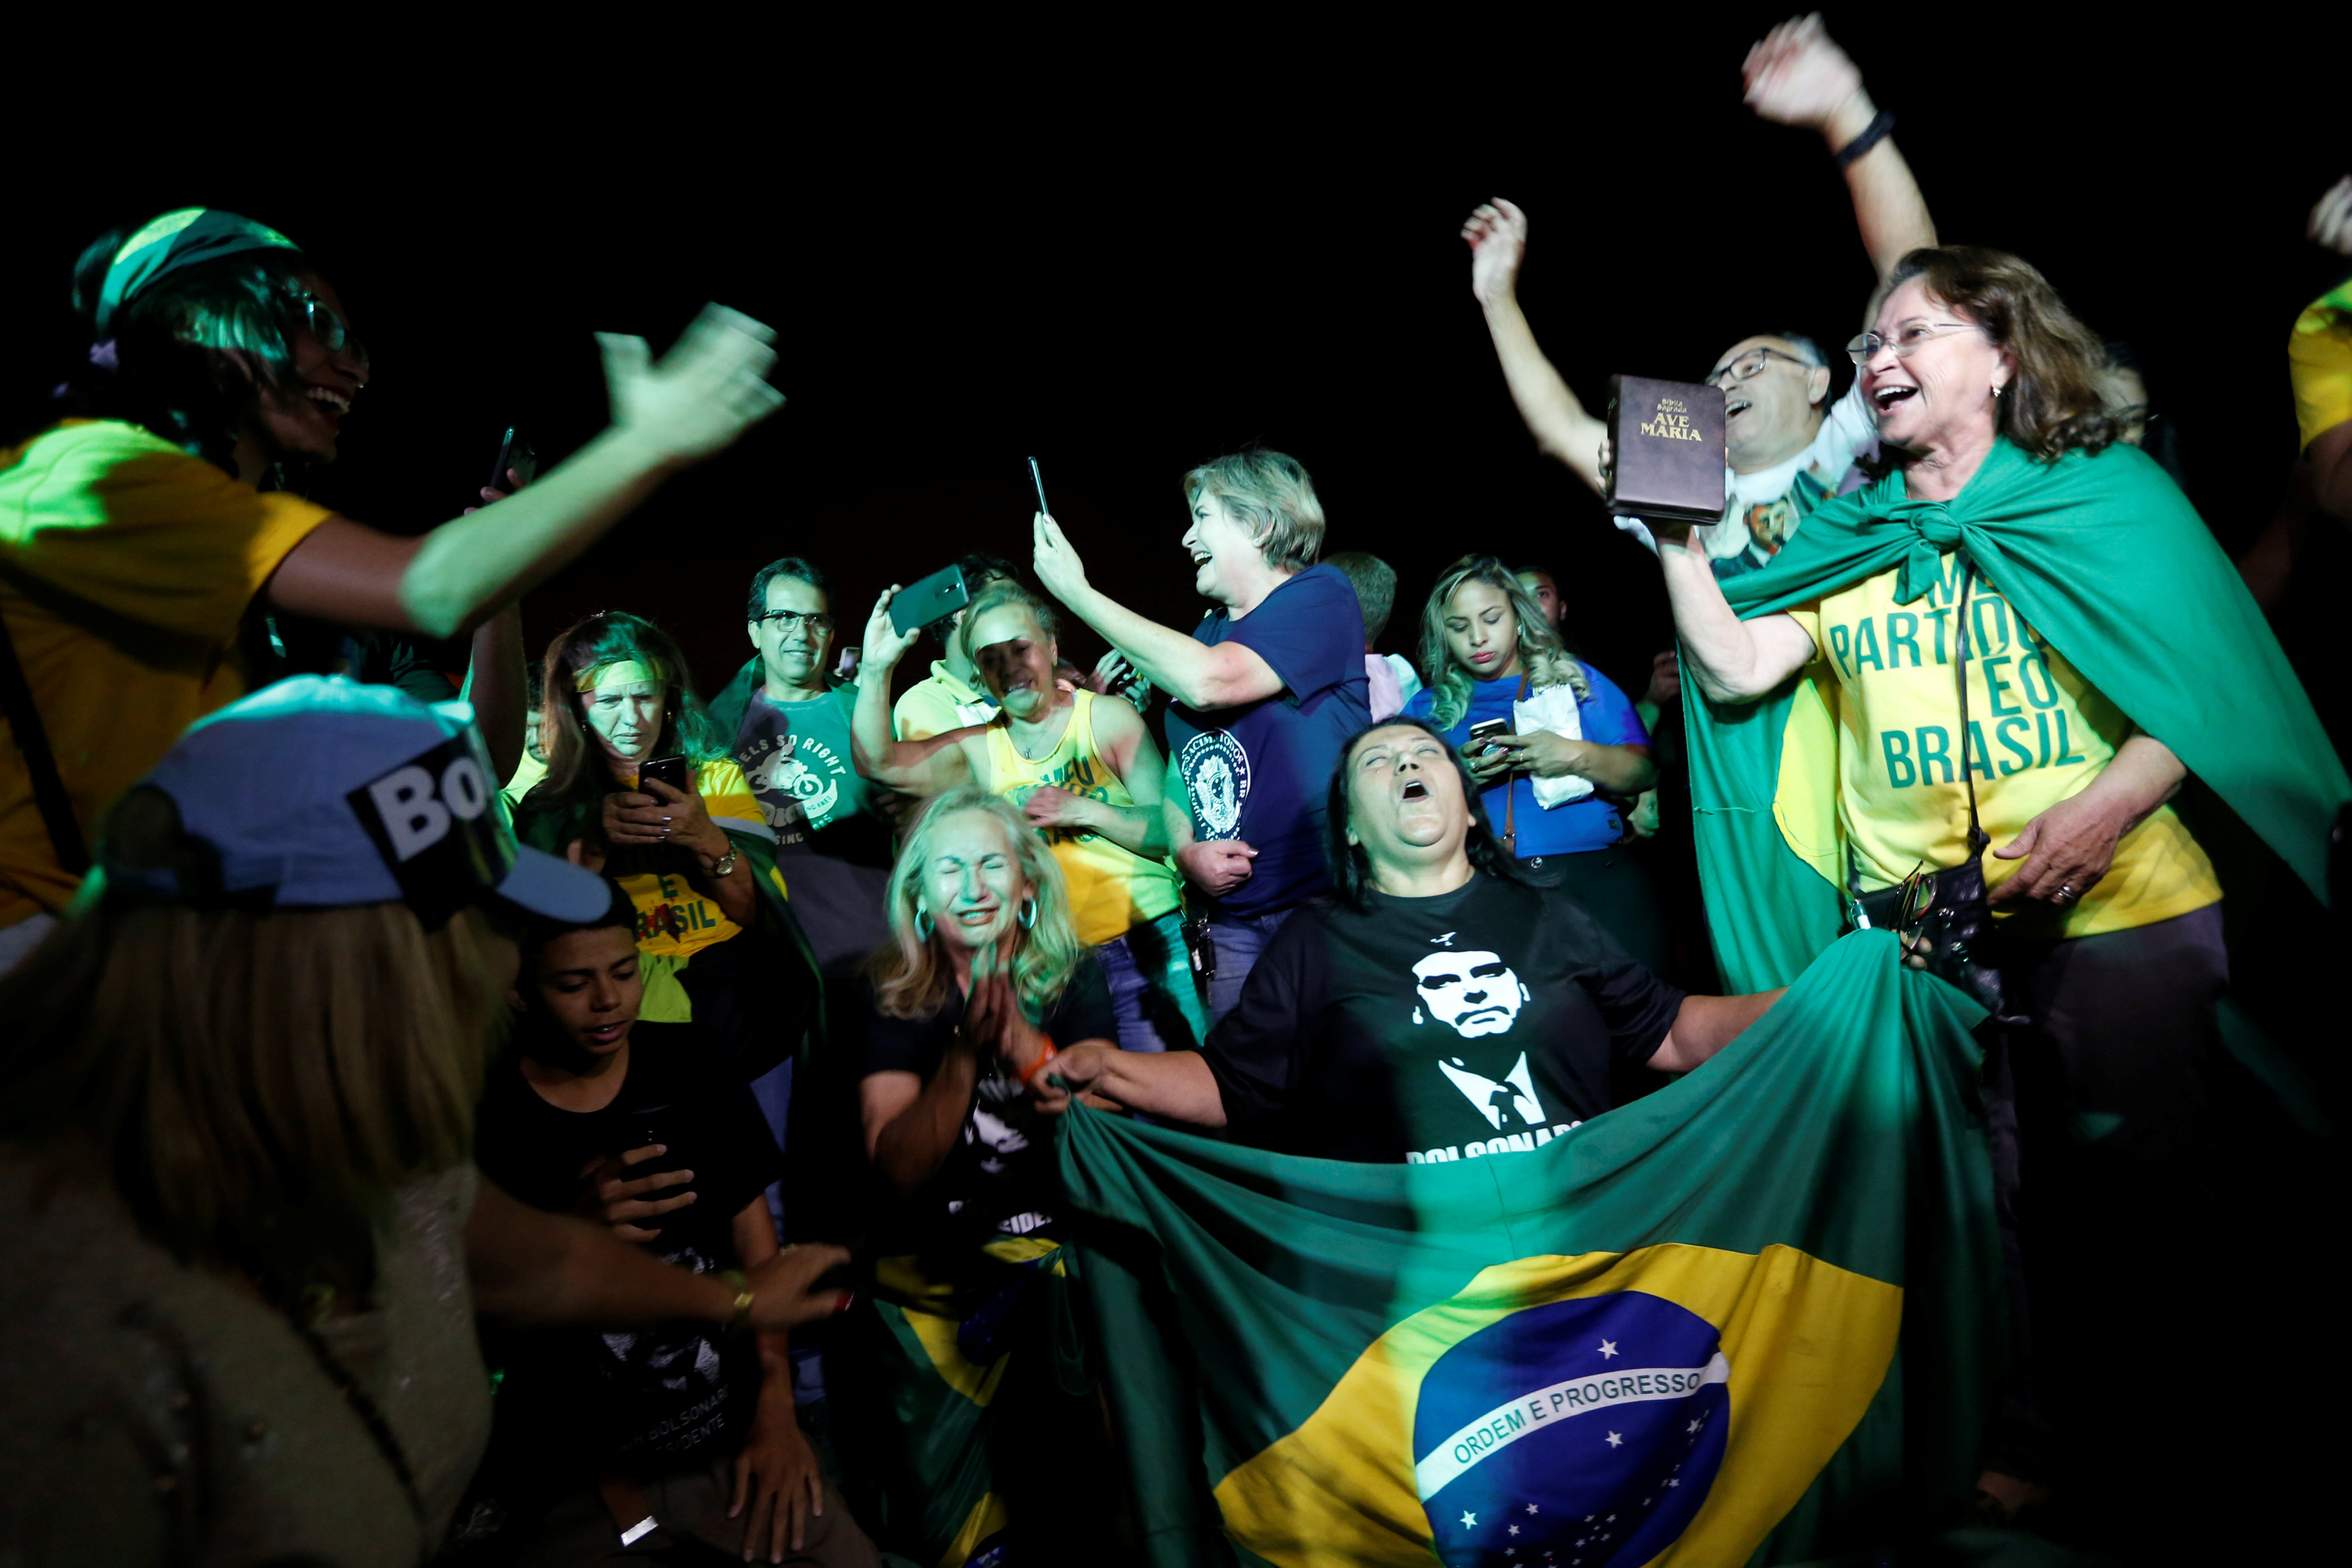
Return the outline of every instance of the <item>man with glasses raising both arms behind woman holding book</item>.
<path id="1" fill-rule="evenodd" d="M 1780 125 L 1820 132 L 1846 188 L 1853 216 L 1879 277 L 1924 244 L 1936 244 L 1910 165 L 1889 139 L 1893 115 L 1882 115 L 1863 92 L 1863 75 L 1830 42 L 1818 16 L 1773 28 L 1748 52 L 1748 106 Z M 1470 289 L 1486 313 L 1503 378 L 1536 442 L 1578 473 L 1595 491 L 1602 480 L 1606 425 L 1585 411 L 1552 369 L 1517 301 L 1519 261 L 1526 256 L 1526 214 L 1496 200 L 1470 214 Z M 1726 348 L 1705 381 L 1724 388 L 1726 508 L 1717 524 L 1691 529 L 1717 576 L 1764 567 L 1795 534 L 1797 522 L 1825 496 L 1860 484 L 1860 458 L 1877 454 L 1877 425 L 1858 390 L 1830 402 L 1830 367 L 1811 339 L 1764 331 Z"/>

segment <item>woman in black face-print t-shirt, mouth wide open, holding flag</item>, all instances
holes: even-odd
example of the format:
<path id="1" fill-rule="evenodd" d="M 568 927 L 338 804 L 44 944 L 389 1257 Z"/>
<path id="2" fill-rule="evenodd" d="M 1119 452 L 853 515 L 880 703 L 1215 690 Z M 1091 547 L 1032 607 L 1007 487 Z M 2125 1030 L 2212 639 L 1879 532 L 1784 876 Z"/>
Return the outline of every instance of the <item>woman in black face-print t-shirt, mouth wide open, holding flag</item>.
<path id="1" fill-rule="evenodd" d="M 1484 1159 L 1609 1110 L 1611 1067 L 1689 1072 L 1780 997 L 1689 997 L 1522 882 L 1418 719 L 1345 745 L 1327 820 L 1336 898 L 1282 926 L 1202 1051 L 1077 1048 L 1054 1077 L 1294 1154 Z M 1047 1081 L 1040 1110 L 1065 1095 Z"/>

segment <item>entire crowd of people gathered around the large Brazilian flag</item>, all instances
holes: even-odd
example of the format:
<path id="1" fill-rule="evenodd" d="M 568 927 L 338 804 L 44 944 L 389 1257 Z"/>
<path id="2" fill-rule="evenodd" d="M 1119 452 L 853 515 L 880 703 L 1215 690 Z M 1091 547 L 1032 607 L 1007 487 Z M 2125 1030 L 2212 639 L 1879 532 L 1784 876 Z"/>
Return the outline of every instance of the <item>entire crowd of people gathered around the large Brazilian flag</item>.
<path id="1" fill-rule="evenodd" d="M 1120 1561 L 1073 1103 L 1515 1157 L 1863 926 L 1990 1016 L 1978 1507 L 2030 1516 L 2096 1441 L 2100 1326 L 2213 1213 L 2230 961 L 2176 795 L 2321 886 L 2345 773 L 2138 449 L 2129 364 L 2027 261 L 1938 242 L 1818 19 L 1748 99 L 1825 139 L 1877 292 L 1842 395 L 1790 331 L 1705 374 L 1726 505 L 1618 517 L 1677 635 L 1623 684 L 1550 567 L 1477 550 L 1383 656 L 1397 571 L 1327 550 L 1345 522 L 1270 449 L 1181 480 L 1192 628 L 1037 512 L 957 562 L 960 609 L 901 628 L 882 592 L 849 658 L 783 555 L 708 701 L 628 611 L 527 668 L 522 595 L 776 411 L 767 327 L 607 336 L 609 430 L 397 536 L 285 487 L 369 378 L 292 240 L 181 209 L 92 244 L 89 362 L 0 451 L 0 1556 Z M 2314 240 L 2352 254 L 2347 214 L 2352 181 Z M 1470 214 L 1470 287 L 1536 444 L 1606 496 L 1526 235 Z M 2352 517 L 2345 287 L 2293 381 Z M 459 635 L 461 686 L 397 677 Z M 1644 839 L 1696 853 L 1703 917 Z"/>

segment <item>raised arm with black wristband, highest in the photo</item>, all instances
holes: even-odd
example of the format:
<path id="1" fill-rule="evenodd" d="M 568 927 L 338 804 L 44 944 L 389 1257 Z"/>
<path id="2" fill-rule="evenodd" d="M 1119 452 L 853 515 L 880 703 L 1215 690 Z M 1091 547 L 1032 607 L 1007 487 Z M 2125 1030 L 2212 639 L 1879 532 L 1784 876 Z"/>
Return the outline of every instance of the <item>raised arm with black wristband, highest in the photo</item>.
<path id="1" fill-rule="evenodd" d="M 1853 146 L 1879 113 L 1863 92 L 1860 68 L 1830 42 L 1820 12 L 1783 21 L 1766 33 L 1748 52 L 1740 75 L 1748 108 L 1780 125 L 1820 132 L 1832 155 Z M 1893 136 L 1879 136 L 1846 165 L 1846 190 L 1853 193 L 1853 221 L 1863 230 L 1863 249 L 1870 252 L 1870 266 L 1882 282 L 1905 254 L 1936 244 L 1936 221 Z"/>

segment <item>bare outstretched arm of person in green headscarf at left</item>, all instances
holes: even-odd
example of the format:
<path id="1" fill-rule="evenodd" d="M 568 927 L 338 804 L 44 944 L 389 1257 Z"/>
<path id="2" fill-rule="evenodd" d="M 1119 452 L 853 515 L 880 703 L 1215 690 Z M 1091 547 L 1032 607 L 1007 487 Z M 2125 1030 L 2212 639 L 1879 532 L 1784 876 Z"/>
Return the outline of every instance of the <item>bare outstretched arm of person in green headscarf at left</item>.
<path id="1" fill-rule="evenodd" d="M 783 404 L 767 383 L 776 334 L 710 306 L 661 364 L 644 339 L 600 334 L 612 428 L 520 496 L 423 538 L 329 517 L 280 562 L 278 609 L 452 637 L 522 597 L 604 536 L 673 473 L 724 451 Z"/>

